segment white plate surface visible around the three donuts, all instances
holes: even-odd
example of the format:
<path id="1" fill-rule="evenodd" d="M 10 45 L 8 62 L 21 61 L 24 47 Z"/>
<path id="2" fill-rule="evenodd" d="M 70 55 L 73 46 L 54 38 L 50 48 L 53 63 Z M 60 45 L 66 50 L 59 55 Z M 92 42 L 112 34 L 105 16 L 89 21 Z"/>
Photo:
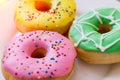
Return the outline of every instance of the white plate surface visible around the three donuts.
<path id="1" fill-rule="evenodd" d="M 16 35 L 17 30 L 14 23 L 14 4 L 11 0 L 0 6 L 0 59 L 6 44 Z M 117 0 L 76 0 L 77 16 L 99 7 L 117 7 Z M 0 70 L 0 80 L 4 80 Z M 90 65 L 79 59 L 76 60 L 75 72 L 71 80 L 120 80 L 120 64 L 113 65 Z"/>

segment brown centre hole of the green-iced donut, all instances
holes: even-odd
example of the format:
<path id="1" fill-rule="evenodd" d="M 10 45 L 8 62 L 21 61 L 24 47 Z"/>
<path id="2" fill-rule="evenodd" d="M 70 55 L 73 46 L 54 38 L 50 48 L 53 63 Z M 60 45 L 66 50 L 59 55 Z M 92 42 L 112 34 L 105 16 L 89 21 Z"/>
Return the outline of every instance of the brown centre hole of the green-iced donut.
<path id="1" fill-rule="evenodd" d="M 112 26 L 109 24 L 99 24 L 98 28 L 99 28 L 98 32 L 101 34 L 107 33 L 112 30 Z"/>

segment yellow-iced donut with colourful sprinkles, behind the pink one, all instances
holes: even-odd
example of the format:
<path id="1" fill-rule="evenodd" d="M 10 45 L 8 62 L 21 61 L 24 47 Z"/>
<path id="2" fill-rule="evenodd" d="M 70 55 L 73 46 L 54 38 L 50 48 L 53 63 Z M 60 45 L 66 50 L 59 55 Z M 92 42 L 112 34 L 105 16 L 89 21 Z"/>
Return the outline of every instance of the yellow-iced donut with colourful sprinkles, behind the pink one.
<path id="1" fill-rule="evenodd" d="M 76 15 L 74 0 L 18 0 L 15 23 L 22 32 L 49 30 L 65 34 Z"/>

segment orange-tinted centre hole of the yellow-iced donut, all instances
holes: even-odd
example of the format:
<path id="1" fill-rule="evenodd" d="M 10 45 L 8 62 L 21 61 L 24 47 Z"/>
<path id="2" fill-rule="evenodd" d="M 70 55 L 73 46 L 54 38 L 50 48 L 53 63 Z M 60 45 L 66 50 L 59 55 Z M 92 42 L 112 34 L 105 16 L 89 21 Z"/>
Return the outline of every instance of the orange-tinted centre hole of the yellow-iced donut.
<path id="1" fill-rule="evenodd" d="M 49 1 L 46 0 L 35 0 L 35 8 L 38 11 L 49 11 L 51 9 L 51 4 Z"/>

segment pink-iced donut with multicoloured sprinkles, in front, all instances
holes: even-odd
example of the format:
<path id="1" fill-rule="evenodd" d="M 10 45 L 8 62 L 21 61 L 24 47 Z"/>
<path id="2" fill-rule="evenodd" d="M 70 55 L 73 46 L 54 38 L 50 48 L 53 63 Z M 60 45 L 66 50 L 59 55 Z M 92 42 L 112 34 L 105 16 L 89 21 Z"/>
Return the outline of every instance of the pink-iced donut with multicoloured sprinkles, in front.
<path id="1" fill-rule="evenodd" d="M 6 80 L 67 80 L 76 50 L 66 37 L 52 31 L 32 31 L 15 37 L 2 58 Z"/>

